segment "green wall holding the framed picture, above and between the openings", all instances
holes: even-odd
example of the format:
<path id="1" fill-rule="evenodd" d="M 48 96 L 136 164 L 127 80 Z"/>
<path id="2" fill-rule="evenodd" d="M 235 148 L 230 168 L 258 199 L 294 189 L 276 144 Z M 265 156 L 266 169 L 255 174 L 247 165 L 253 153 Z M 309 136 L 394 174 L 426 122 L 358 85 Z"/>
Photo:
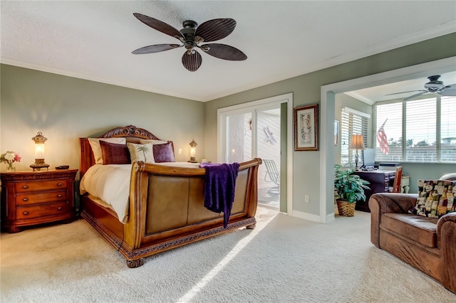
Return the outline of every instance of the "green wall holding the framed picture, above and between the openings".
<path id="1" fill-rule="evenodd" d="M 309 105 L 320 102 L 322 85 L 339 83 L 453 56 L 456 56 L 456 33 L 388 50 L 384 53 L 206 102 L 204 104 L 204 142 L 217 142 L 217 109 L 219 108 L 261 100 L 289 92 L 293 93 L 294 107 Z M 332 130 L 331 128 L 331 134 L 320 134 L 320 139 L 326 135 L 331 135 L 332 137 Z M 289 134 L 289 139 L 292 139 L 292 136 L 293 134 Z M 204 155 L 207 159 L 217 159 L 217 146 L 215 144 L 206 144 Z M 289 210 L 289 213 L 299 211 L 320 216 L 320 201 L 318 198 L 321 187 L 319 181 L 320 152 L 294 151 L 293 159 L 293 209 Z M 456 165 L 450 166 L 450 168 L 445 166 L 445 170 L 456 171 Z M 443 171 L 440 165 L 427 164 L 426 167 L 426 172 L 437 170 L 435 172 L 436 175 Z M 304 203 L 304 195 L 311 197 L 310 203 Z M 331 202 L 328 201 L 329 203 L 333 203 L 332 197 Z M 328 210 L 328 213 L 331 212 L 331 210 Z"/>

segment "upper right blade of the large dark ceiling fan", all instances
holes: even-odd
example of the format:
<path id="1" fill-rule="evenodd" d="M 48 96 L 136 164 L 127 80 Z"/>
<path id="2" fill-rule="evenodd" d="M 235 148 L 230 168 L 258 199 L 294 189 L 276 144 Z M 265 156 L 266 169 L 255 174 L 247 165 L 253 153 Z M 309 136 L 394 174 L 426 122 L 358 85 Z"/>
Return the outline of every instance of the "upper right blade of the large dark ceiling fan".
<path id="1" fill-rule="evenodd" d="M 203 38 L 204 42 L 217 41 L 232 33 L 235 27 L 236 21 L 232 18 L 213 19 L 198 26 L 195 37 Z"/>

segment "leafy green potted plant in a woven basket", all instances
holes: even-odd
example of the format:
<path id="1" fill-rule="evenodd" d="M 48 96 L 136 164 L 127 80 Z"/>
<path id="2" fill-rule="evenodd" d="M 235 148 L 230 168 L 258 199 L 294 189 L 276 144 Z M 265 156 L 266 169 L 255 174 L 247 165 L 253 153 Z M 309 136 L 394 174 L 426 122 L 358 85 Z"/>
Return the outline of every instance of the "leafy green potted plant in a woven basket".
<path id="1" fill-rule="evenodd" d="M 334 165 L 334 187 L 339 198 L 336 199 L 340 216 L 353 217 L 356 201 L 366 201 L 365 189 L 369 189 L 368 181 L 353 174 L 353 166 Z"/>

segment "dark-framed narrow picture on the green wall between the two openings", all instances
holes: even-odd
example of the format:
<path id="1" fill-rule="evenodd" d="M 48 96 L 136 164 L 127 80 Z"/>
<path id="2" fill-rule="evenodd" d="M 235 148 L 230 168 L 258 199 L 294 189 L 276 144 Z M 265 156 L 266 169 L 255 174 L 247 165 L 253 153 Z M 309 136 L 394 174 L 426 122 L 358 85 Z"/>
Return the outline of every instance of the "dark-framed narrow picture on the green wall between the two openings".
<path id="1" fill-rule="evenodd" d="M 294 150 L 318 151 L 318 104 L 294 108 Z"/>

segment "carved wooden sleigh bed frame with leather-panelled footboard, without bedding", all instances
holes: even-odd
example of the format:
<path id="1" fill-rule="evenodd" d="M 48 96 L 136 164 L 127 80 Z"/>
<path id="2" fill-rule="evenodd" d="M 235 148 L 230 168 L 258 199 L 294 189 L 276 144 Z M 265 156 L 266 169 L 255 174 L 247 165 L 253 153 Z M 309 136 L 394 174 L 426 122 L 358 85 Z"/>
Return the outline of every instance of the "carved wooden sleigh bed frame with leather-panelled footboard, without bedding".
<path id="1" fill-rule="evenodd" d="M 98 138 L 125 137 L 126 142 L 159 140 L 145 129 L 117 127 Z M 79 138 L 81 179 L 95 165 L 88 138 Z M 261 159 L 239 163 L 234 203 L 227 228 L 223 213 L 204 207 L 204 168 L 162 166 L 134 162 L 131 168 L 128 217 L 120 222 L 110 208 L 101 206 L 88 193 L 81 196 L 81 216 L 98 230 L 127 260 L 139 267 L 144 258 L 194 243 L 236 228 L 255 227 L 257 174 Z"/>

